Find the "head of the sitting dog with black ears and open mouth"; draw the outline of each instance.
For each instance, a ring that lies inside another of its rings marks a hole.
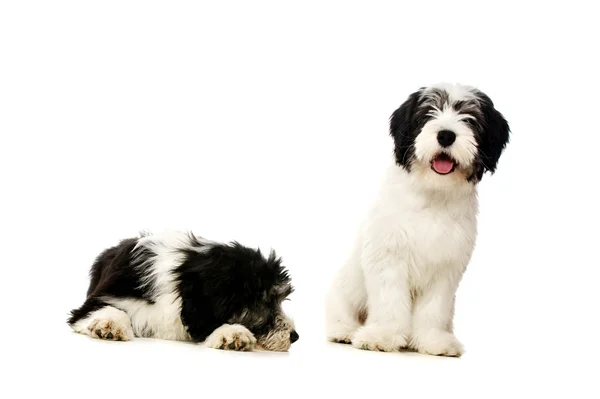
[[[396,163],[433,188],[477,184],[493,173],[509,132],[492,100],[463,85],[421,88],[390,120]]]

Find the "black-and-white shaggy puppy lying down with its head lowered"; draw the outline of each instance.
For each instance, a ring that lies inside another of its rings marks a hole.
[[[281,258],[190,232],[142,233],[103,251],[67,321],[93,338],[204,342],[288,351],[299,338],[282,303],[294,287]]]

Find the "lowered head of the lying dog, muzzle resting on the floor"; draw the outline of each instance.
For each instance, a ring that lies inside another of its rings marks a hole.
[[[294,322],[282,306],[294,291],[288,271],[274,251],[264,257],[259,250],[243,250],[246,273],[241,271],[241,275],[246,281],[244,289],[231,292],[239,305],[229,322],[246,326],[260,349],[287,351],[299,339]]]

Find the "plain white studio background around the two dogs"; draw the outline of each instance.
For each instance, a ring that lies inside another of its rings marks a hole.
[[[598,397],[596,16],[577,1],[2,2],[6,397]],[[323,295],[391,161],[388,118],[439,81],[478,86],[513,131],[480,185],[455,320],[467,353],[327,344]],[[297,288],[292,350],[72,333],[97,253],[164,228],[275,248]]]

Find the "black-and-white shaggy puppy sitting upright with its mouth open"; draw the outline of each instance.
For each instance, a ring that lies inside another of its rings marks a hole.
[[[421,87],[392,114],[393,162],[325,300],[332,342],[461,356],[455,294],[477,235],[477,187],[509,142],[482,91]]]

